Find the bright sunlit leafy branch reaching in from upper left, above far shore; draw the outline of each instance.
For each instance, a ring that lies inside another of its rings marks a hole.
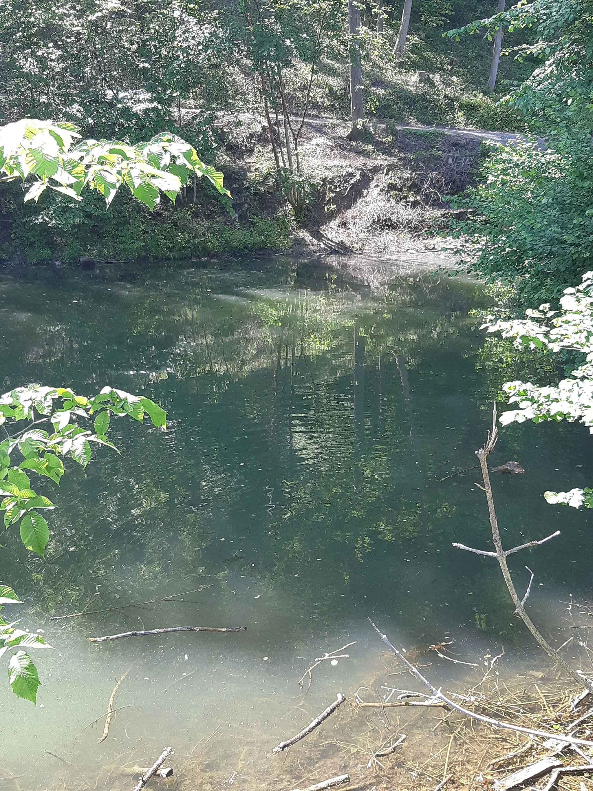
[[[83,187],[90,187],[109,206],[123,184],[153,210],[159,191],[175,201],[190,173],[205,176],[221,195],[230,195],[222,173],[204,165],[195,149],[175,134],[163,132],[135,146],[84,140],[73,148],[74,138],[80,138],[77,127],[65,122],[25,118],[0,127],[0,173],[22,181],[35,176],[25,202],[37,202],[47,187],[79,201]]]

